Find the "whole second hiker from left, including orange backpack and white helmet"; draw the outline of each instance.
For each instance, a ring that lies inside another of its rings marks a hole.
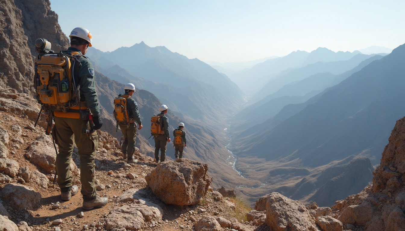
[[[136,123],[139,125],[139,130],[142,129],[142,120],[139,116],[138,104],[132,99],[135,92],[135,86],[128,83],[124,87],[125,94],[118,95],[114,100],[114,117],[117,120],[117,126],[124,135],[122,143],[122,155],[127,159],[127,163],[136,163],[133,159],[136,143]],[[136,123],[135,123],[136,122]]]

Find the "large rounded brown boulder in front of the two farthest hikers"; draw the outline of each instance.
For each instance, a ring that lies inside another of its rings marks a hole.
[[[207,170],[206,163],[181,158],[160,163],[145,180],[164,203],[192,205],[207,193],[212,182]]]

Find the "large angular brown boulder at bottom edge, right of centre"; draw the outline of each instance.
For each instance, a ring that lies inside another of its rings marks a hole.
[[[280,193],[267,194],[266,223],[273,231],[316,231],[315,219],[307,207]]]

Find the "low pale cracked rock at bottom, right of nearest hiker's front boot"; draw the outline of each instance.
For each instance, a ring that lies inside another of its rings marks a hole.
[[[162,220],[162,208],[145,198],[146,196],[147,191],[144,189],[128,189],[117,197],[117,201],[122,203],[128,201],[134,201],[134,203],[111,210],[106,218],[106,229],[139,230],[143,228],[144,220],[146,222]]]

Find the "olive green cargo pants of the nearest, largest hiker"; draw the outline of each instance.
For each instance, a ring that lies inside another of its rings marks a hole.
[[[73,184],[70,173],[70,161],[74,143],[79,149],[80,156],[80,182],[81,194],[83,197],[94,197],[96,195],[96,174],[94,158],[98,148],[97,133],[84,134],[82,129],[90,130],[90,122],[80,119],[55,117],[56,140],[59,146],[59,153],[56,157],[56,172],[58,184],[61,190]],[[73,142],[74,141],[74,142]]]

